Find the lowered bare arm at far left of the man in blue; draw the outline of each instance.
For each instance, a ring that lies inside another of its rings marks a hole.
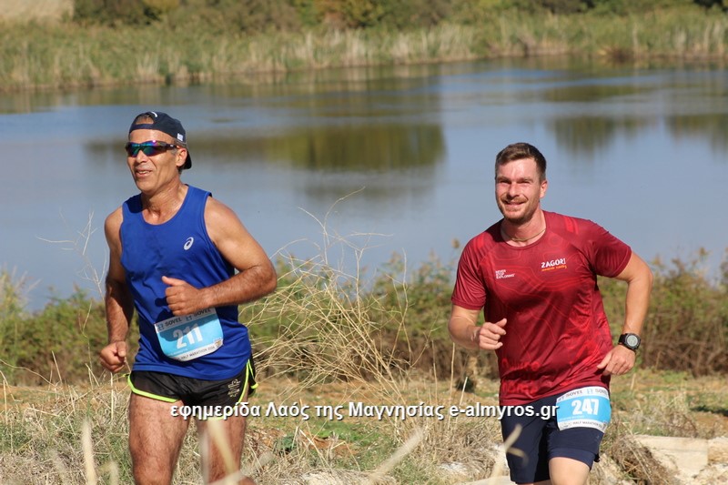
[[[126,287],[124,268],[121,266],[121,208],[106,217],[104,231],[109,248],[109,266],[106,275],[106,331],[108,345],[101,350],[101,364],[112,372],[126,366],[126,334],[134,314],[134,301]]]

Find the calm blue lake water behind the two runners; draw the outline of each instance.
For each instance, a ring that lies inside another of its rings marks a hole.
[[[500,218],[493,160],[515,141],[549,161],[543,207],[645,259],[705,248],[715,272],[728,247],[722,68],[551,58],[2,95],[0,264],[33,284],[30,308],[74,286],[98,296],[89,270],[106,266],[104,217],[135,193],[123,145],[147,109],[182,120],[183,180],[235,209],[271,257],[317,254],[326,219],[369,268],[393,253],[410,268],[449,261],[453,240]],[[328,251],[350,264],[346,244]]]

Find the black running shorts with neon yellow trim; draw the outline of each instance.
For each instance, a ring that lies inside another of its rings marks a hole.
[[[192,379],[166,372],[135,370],[128,377],[129,387],[139,396],[165,402],[181,400],[186,406],[234,406],[258,387],[253,358],[232,379]]]

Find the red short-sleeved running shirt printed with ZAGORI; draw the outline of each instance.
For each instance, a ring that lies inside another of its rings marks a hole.
[[[507,318],[496,350],[501,405],[583,386],[609,388],[597,365],[612,349],[597,275],[615,277],[632,250],[590,220],[544,211],[546,232],[513,247],[497,222],[465,246],[452,303]]]

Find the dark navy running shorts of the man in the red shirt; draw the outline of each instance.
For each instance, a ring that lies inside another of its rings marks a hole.
[[[561,394],[538,399],[530,405],[538,414],[543,406],[556,406]],[[506,440],[516,425],[522,426],[521,435],[512,448],[521,450],[523,456],[506,453],[511,469],[511,480],[516,483],[532,483],[549,480],[549,460],[563,457],[586,463],[591,470],[594,461],[599,461],[599,445],[604,433],[593,428],[559,429],[556,417],[541,419],[540,416],[507,416],[501,419],[503,440]]]

